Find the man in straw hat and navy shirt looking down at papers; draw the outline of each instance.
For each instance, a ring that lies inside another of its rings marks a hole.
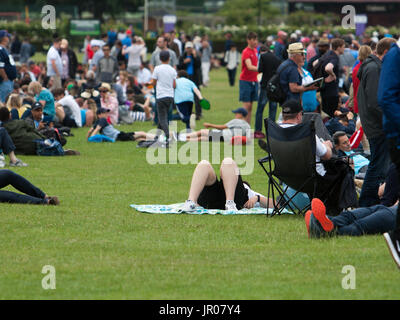
[[[302,85],[300,70],[304,65],[306,53],[303,44],[301,42],[292,43],[289,45],[287,52],[289,58],[278,67],[276,71],[277,77],[274,79],[273,76],[267,85],[270,86],[276,81],[276,78],[279,79],[276,85],[280,86],[280,89],[277,91],[282,90],[282,96],[281,99],[277,97],[278,99],[275,98],[273,101],[275,100],[281,104],[288,100],[301,102],[301,94],[303,92],[318,89],[315,85],[308,87]],[[267,92],[268,90],[270,89],[267,87]]]

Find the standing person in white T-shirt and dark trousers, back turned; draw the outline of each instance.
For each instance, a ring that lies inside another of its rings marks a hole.
[[[168,139],[168,113],[174,103],[174,89],[176,88],[177,73],[176,70],[169,65],[169,51],[161,51],[160,60],[161,64],[154,68],[152,79],[149,85],[156,86],[158,129],[164,131],[165,138]]]

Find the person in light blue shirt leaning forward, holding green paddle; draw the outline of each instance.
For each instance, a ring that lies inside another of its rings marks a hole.
[[[185,70],[178,71],[175,88],[176,109],[182,121],[186,124],[186,129],[194,130],[195,114],[192,116],[193,102],[195,95],[199,100],[203,99],[200,90],[196,84],[189,80],[189,74]]]

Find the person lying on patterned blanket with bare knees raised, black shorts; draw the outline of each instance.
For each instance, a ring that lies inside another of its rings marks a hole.
[[[250,189],[242,180],[236,162],[225,158],[220,167],[218,180],[213,167],[207,160],[200,161],[193,172],[189,198],[182,211],[192,212],[196,205],[205,209],[236,211],[253,208],[257,203],[267,207],[267,198]],[[270,204],[271,206],[271,204]]]

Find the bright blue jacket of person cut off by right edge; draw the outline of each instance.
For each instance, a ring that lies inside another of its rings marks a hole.
[[[385,115],[386,136],[397,137],[400,146],[400,48],[395,43],[383,58],[378,102]]]

